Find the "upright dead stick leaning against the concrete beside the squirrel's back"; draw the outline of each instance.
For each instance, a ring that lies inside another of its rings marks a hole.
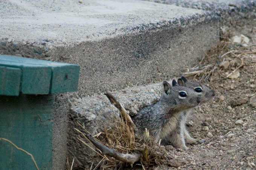
[[[111,94],[111,92],[109,91],[105,92],[104,94],[108,97],[110,102],[114,104],[114,106],[116,106],[116,108],[120,111],[122,118],[125,118],[126,124],[128,124],[130,127],[132,126],[134,128],[134,131],[137,132],[138,129],[133,123],[129,112],[119,103],[119,101],[117,101],[116,97],[114,97],[113,94]]]

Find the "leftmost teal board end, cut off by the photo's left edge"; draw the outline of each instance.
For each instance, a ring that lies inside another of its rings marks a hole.
[[[0,66],[0,95],[19,95],[21,69]]]

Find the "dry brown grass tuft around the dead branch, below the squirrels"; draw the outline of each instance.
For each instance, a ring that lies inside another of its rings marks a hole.
[[[84,143],[84,145],[90,147],[94,152],[98,153],[98,155],[102,157],[102,160],[96,164],[96,166],[94,165],[94,169],[120,170],[125,167],[131,167],[131,165],[128,165],[127,163],[123,163],[122,161],[115,160],[112,157],[102,155],[101,151],[94,149],[92,144],[90,145],[85,142],[89,140],[85,137],[82,131],[87,130],[81,124],[79,124],[79,129],[80,130],[76,129],[76,131],[80,133],[78,140]],[[101,132],[99,135],[95,135],[94,137],[96,137],[99,142],[108,148],[114,149],[119,153],[141,154],[140,162],[134,164],[133,166],[142,166],[143,169],[152,167],[154,165],[163,164],[163,161],[166,158],[165,146],[158,145],[158,143],[156,143],[155,140],[149,136],[148,132],[145,132],[143,136],[136,137],[134,135],[133,128],[128,126],[125,119],[120,117],[114,117],[112,124],[105,127],[104,132]]]

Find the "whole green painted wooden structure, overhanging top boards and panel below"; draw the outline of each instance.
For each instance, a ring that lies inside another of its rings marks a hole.
[[[79,66],[0,55],[0,138],[52,169],[53,95],[76,91]],[[30,156],[0,140],[1,170],[34,170]]]

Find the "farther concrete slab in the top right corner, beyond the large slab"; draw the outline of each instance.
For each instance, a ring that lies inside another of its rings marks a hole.
[[[256,18],[256,0],[149,0],[193,9],[212,11],[221,25],[236,26],[241,19]]]

